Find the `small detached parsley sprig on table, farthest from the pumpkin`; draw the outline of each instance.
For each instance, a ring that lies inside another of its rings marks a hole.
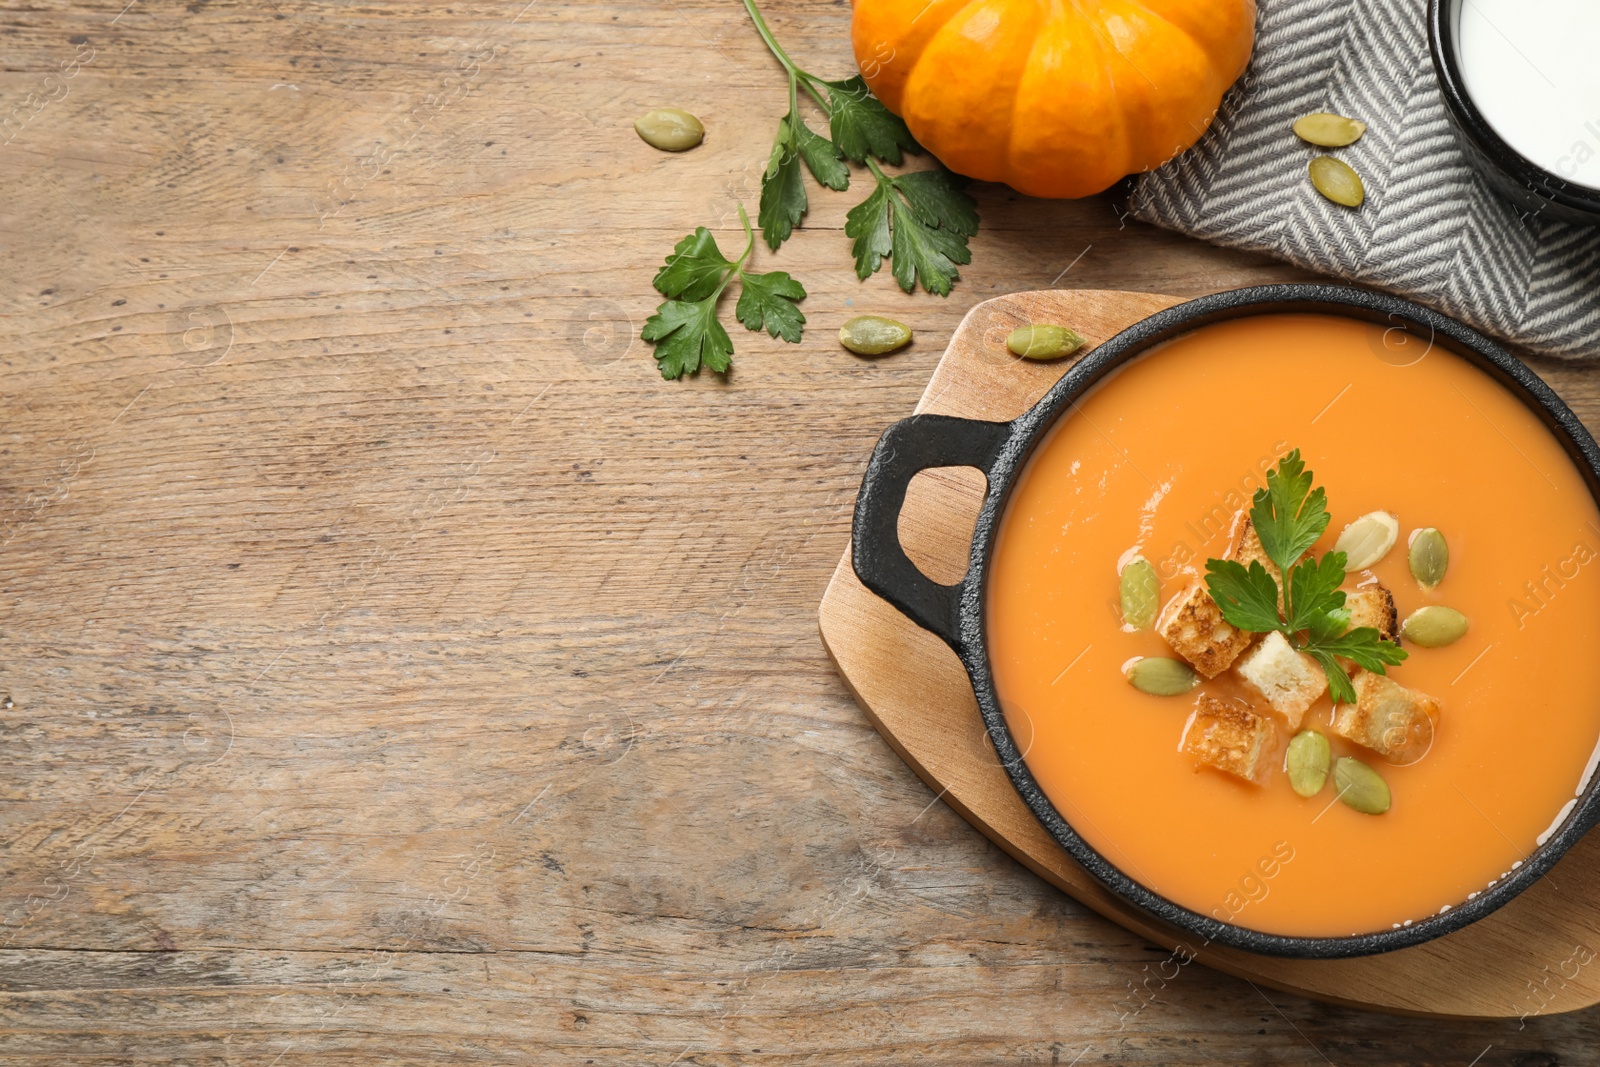
[[[805,286],[782,270],[750,274],[744,264],[755,251],[750,216],[739,205],[744,224],[744,253],[728,259],[717,238],[704,226],[685,237],[656,272],[654,286],[667,298],[656,314],[645,320],[643,338],[656,344],[656,366],[666,379],[696,373],[702,365],[726,371],[733,365],[733,338],[717,318],[717,304],[734,275],[739,277],[739,302],[734,315],[746,330],[766,330],[790,344],[800,341],[805,314],[795,306],[805,299]]]

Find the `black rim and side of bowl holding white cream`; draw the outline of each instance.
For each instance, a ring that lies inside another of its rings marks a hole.
[[[1445,98],[1445,112],[1472,165],[1494,192],[1530,214],[1579,226],[1600,222],[1600,190],[1566,181],[1517,152],[1494,133],[1472,102],[1461,78],[1456,51],[1461,8],[1466,3],[1467,0],[1429,0],[1427,43],[1434,53],[1434,72]]]

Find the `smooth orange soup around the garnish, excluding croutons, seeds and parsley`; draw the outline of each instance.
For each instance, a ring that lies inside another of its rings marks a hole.
[[[1435,915],[1518,867],[1594,773],[1594,498],[1552,432],[1488,374],[1437,347],[1411,358],[1384,347],[1381,326],[1341,317],[1203,326],[1098,384],[1011,494],[987,640],[1018,749],[1094,849],[1203,915],[1302,937]],[[1123,675],[1131,657],[1174,653],[1155,630],[1123,627],[1120,563],[1147,558],[1165,603],[1222,555],[1234,515],[1294,448],[1328,494],[1314,553],[1387,510],[1398,542],[1366,581],[1392,590],[1400,619],[1448,605],[1470,622],[1443,648],[1402,640],[1410,657],[1389,667],[1438,702],[1421,760],[1397,766],[1336,736],[1326,694],[1306,712],[1301,728],[1326,734],[1334,758],[1382,774],[1384,814],[1339,803],[1331,781],[1296,795],[1283,723],[1259,782],[1198,768],[1179,745],[1200,691],[1147,696]],[[1427,526],[1450,545],[1430,590],[1406,560],[1408,534]]]

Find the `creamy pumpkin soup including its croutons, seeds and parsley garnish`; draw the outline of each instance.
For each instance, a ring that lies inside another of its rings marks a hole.
[[[1013,490],[986,614],[1051,803],[1264,933],[1474,897],[1597,761],[1582,475],[1488,374],[1349,318],[1203,326],[1098,384]]]

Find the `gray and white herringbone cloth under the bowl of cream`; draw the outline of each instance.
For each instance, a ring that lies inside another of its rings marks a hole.
[[[1600,227],[1522,218],[1456,146],[1427,0],[1259,0],[1256,54],[1190,152],[1136,182],[1136,218],[1392,290],[1541,355],[1600,355]],[[1333,154],[1352,211],[1306,176],[1309,112],[1362,118]]]

